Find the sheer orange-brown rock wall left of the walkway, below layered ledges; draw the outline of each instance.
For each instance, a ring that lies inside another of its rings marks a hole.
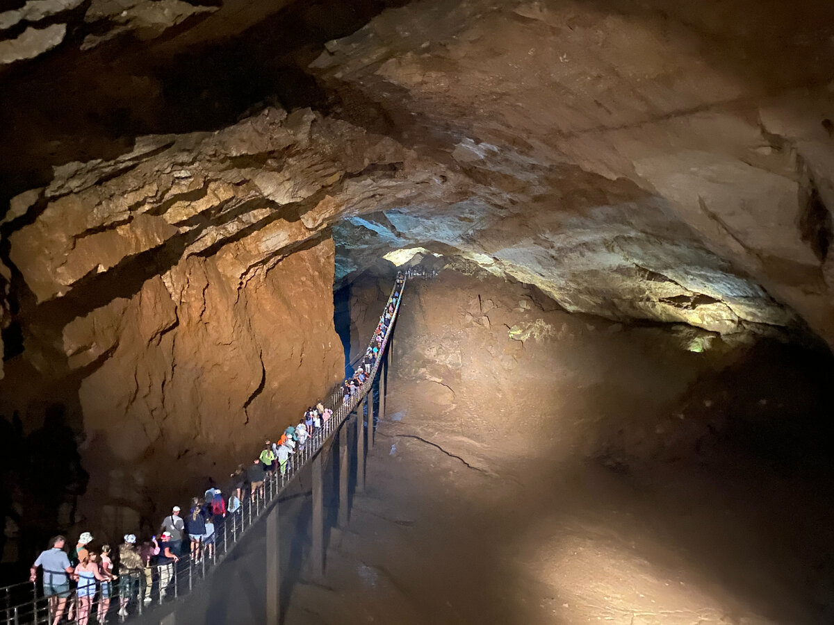
[[[111,540],[138,529],[208,477],[222,482],[338,381],[333,259],[324,238],[241,286],[221,273],[222,258],[187,258],[68,323],[65,378],[77,387],[64,393],[77,389],[77,398],[53,398],[74,407],[90,479],[63,522]],[[3,394],[22,400],[9,386]]]

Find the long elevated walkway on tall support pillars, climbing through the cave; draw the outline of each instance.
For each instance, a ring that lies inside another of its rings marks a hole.
[[[399,282],[401,280],[401,283]],[[322,427],[315,430],[303,448],[296,449],[290,458],[286,473],[281,474],[275,463],[276,472],[264,481],[264,491],[254,499],[244,496],[238,512],[228,513],[223,522],[215,527],[215,545],[212,557],[203,557],[195,562],[192,557],[183,556],[179,561],[168,565],[153,565],[144,572],[120,576],[112,582],[111,601],[108,607],[108,622],[160,622],[163,625],[174,625],[177,621],[178,607],[183,597],[203,585],[212,576],[215,567],[219,566],[239,545],[250,527],[262,518],[266,519],[266,615],[267,625],[278,625],[280,606],[279,589],[281,586],[281,570],[279,567],[279,498],[306,468],[310,468],[313,481],[313,532],[310,549],[310,570],[314,578],[321,578],[324,574],[324,517],[323,517],[323,475],[322,458],[328,452],[339,434],[339,525],[348,521],[350,457],[352,450],[348,449],[346,428],[354,423],[352,415],[357,415],[356,436],[356,489],[364,490],[364,462],[365,449],[374,446],[374,388],[379,388],[379,416],[384,415],[385,403],[385,369],[389,363],[389,351],[392,343],[394,325],[399,315],[401,296],[405,286],[405,276],[399,276],[394,283],[388,301],[385,303],[380,326],[383,328],[382,342],[376,337],[371,338],[369,350],[378,348],[375,358],[369,363],[368,375],[364,383],[352,394],[344,393],[342,383],[335,386],[322,401],[325,408],[333,411],[332,417],[322,423]],[[393,313],[385,324],[385,311],[393,308]],[[378,326],[378,328],[380,327]],[[364,354],[354,359],[352,367],[361,365]],[[367,405],[367,425],[365,423],[365,406]],[[229,497],[230,492],[224,491]],[[183,541],[183,542],[187,542]],[[115,556],[117,549],[113,549]],[[114,565],[114,571],[118,566]],[[150,583],[148,584],[148,572]],[[73,619],[68,619],[70,609],[65,608],[60,622],[77,622],[79,625],[93,625],[98,623],[96,618],[97,604],[102,596],[101,582],[97,582],[96,594],[91,601],[87,619],[78,617],[79,597],[77,589],[72,589],[63,597],[66,605],[72,607]],[[163,587],[166,592],[161,592]],[[0,625],[53,625],[54,605],[50,606],[48,597],[43,596],[40,582],[24,582],[13,586],[0,588]],[[118,616],[117,611],[124,606],[128,615]],[[118,621],[117,621],[118,619]]]

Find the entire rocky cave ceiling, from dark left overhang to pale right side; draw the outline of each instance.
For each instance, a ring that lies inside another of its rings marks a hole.
[[[421,246],[569,311],[831,345],[832,18],[811,0],[13,2],[3,323],[63,327],[190,257],[242,288],[332,236],[337,281]]]

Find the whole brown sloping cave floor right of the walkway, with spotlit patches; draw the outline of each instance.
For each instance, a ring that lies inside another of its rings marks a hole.
[[[450,272],[407,289],[366,492],[285,622],[831,622],[830,466],[738,440],[811,395],[793,365],[528,295]],[[534,322],[556,336],[507,338]],[[759,443],[790,440],[777,426]]]

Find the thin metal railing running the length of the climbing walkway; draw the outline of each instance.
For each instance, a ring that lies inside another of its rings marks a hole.
[[[364,383],[355,393],[347,396],[344,396],[343,383],[334,386],[322,401],[325,408],[333,411],[332,416],[326,421],[322,419],[321,427],[314,429],[304,445],[296,448],[283,473],[276,460],[273,464],[274,473],[264,475],[262,487],[249,495],[245,493],[244,487],[239,509],[236,512],[227,512],[225,517],[216,519],[214,542],[210,550],[206,543],[203,544],[196,558],[187,554],[179,557],[178,562],[155,563],[132,572],[118,573],[117,571],[118,577],[112,582],[93,580],[93,583],[88,586],[82,584],[60,595],[55,595],[52,602],[49,597],[43,595],[43,592],[38,592],[40,585],[38,582],[21,582],[0,587],[0,625],[3,625],[3,622],[5,625],[52,625],[56,610],[61,609],[60,603],[63,603],[63,610],[61,610],[63,618],[60,622],[92,625],[100,622],[99,617],[103,620],[103,618],[113,616],[114,613],[118,615],[120,622],[124,622],[130,617],[143,614],[154,606],[176,601],[178,597],[191,592],[200,581],[211,574],[214,567],[240,541],[249,527],[259,521],[264,512],[283,493],[284,488],[287,488],[295,476],[319,454],[324,443],[339,430],[344,421],[371,391],[399,313],[399,303],[402,300],[406,278],[403,276],[402,279],[401,284],[394,283],[394,288],[391,289],[388,301],[385,303],[383,315],[379,318],[380,323],[384,323],[384,314],[389,305],[393,304],[394,312],[387,329],[384,329],[382,343],[377,346],[375,336],[369,343],[370,348],[378,347],[379,351]],[[363,353],[359,358],[355,358],[351,366],[355,368],[364,356]],[[369,428],[373,427],[374,424],[370,423]],[[227,499],[229,494],[225,495]],[[183,531],[183,538],[187,537],[188,534]],[[183,540],[183,551],[187,548],[186,542]],[[162,548],[164,549],[164,543]],[[104,597],[104,593],[108,595],[107,598]],[[89,594],[89,597],[85,597],[85,594]]]

